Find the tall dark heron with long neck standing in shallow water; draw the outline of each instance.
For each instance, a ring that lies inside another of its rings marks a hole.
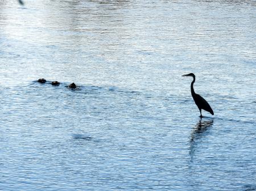
[[[185,74],[185,75],[183,75],[183,77],[193,77],[193,81],[191,82],[191,95],[192,95],[197,107],[199,108],[200,117],[203,117],[202,112],[201,112],[202,109],[204,109],[205,111],[207,111],[207,112],[209,112],[210,114],[213,115],[214,113],[212,111],[212,108],[208,104],[208,102],[202,96],[200,96],[199,94],[196,94],[195,91],[194,91],[193,84],[196,81],[195,74],[193,74],[193,73]]]

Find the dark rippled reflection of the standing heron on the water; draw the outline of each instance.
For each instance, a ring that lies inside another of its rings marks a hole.
[[[193,156],[195,155],[195,148],[199,139],[204,137],[207,133],[207,130],[210,126],[213,125],[213,119],[203,120],[203,118],[199,119],[195,128],[193,128],[191,132],[191,139],[190,139],[190,147],[189,147],[189,155],[191,157],[191,162],[193,162]]]

